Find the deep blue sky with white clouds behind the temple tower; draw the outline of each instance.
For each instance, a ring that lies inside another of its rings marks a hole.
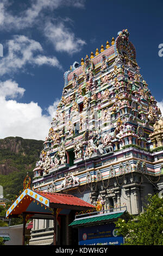
[[[0,138],[45,139],[74,61],[122,29],[162,109],[163,1],[1,0]]]

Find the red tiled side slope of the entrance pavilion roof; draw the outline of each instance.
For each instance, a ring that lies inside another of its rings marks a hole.
[[[92,204],[85,202],[84,200],[72,196],[71,194],[60,194],[60,193],[49,193],[43,191],[37,191],[41,196],[49,199],[50,204],[65,204],[65,205],[75,205],[75,206],[83,206],[87,208],[94,208]]]

